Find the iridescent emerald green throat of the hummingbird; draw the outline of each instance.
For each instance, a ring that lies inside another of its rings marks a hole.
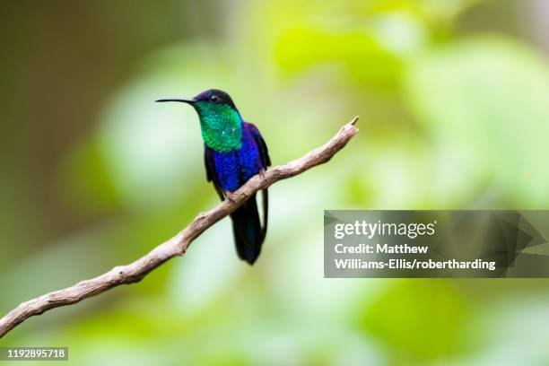
[[[200,118],[202,138],[209,148],[220,153],[242,147],[242,118],[238,110],[228,104],[198,101],[196,112]]]

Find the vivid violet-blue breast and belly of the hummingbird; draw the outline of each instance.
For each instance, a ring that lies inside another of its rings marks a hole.
[[[213,152],[213,163],[219,184],[231,192],[240,188],[263,168],[258,146],[248,128],[243,128],[240,150]]]

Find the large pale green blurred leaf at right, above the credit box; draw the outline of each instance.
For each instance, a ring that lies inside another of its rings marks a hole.
[[[419,57],[405,79],[435,154],[460,156],[456,175],[491,179],[510,203],[549,200],[549,67],[516,41],[469,39]]]

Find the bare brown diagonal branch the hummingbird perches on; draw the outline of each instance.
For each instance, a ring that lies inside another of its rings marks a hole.
[[[267,170],[262,176],[257,175],[249,179],[244,186],[240,187],[234,193],[233,201],[224,200],[210,211],[198,214],[187,228],[135,262],[126,266],[116,266],[109,272],[90,280],[85,280],[63,290],[49,292],[36,299],[23,302],[5,315],[4,318],[0,319],[0,338],[27,318],[42,314],[49,309],[83,301],[120,284],[139,282],[145,275],[153,271],[154,268],[161,266],[162,263],[170,258],[184,255],[193,240],[215,222],[231,214],[246,202],[249,196],[258,190],[269,187],[278,180],[291,178],[316,165],[329,161],[335,153],[344,148],[345,144],[357,134],[358,128],[354,126],[357,120],[358,117],[353,118],[327,144],[307,153],[300,159],[274,167],[271,170]]]

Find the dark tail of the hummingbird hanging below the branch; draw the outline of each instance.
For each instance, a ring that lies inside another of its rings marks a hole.
[[[264,203],[266,204],[266,196]],[[253,265],[261,253],[261,245],[266,234],[266,223],[262,228],[259,221],[256,195],[249,197],[244,205],[231,213],[231,219],[237,253],[240,259]]]

